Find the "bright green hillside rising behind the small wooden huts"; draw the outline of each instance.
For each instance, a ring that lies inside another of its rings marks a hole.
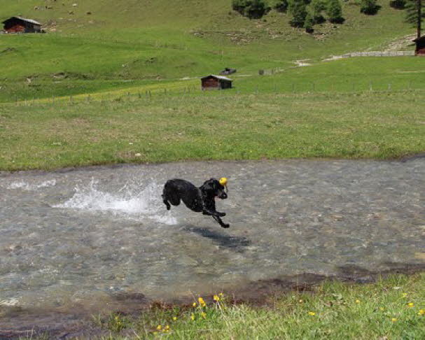
[[[0,101],[134,87],[225,66],[256,73],[295,59],[379,50],[411,31],[387,1],[372,16],[361,14],[357,1],[344,2],[346,22],[319,25],[313,35],[290,27],[285,13],[249,20],[230,3],[0,0],[1,20],[31,17],[49,32],[0,36]]]

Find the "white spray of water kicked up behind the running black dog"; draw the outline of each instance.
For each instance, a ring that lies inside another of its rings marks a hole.
[[[165,225],[175,225],[176,218],[165,211],[161,199],[162,187],[150,183],[141,185],[127,184],[116,192],[105,192],[98,189],[98,183],[92,180],[85,187],[76,186],[75,194],[63,204],[54,208],[72,208],[85,211],[104,211],[132,220],[155,220]]]

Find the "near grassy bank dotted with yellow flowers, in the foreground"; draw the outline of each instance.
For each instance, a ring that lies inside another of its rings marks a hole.
[[[367,285],[327,282],[267,306],[194,297],[196,306],[153,308],[139,318],[95,318],[106,339],[424,339],[425,274]],[[202,303],[204,302],[204,303]],[[125,334],[125,335],[124,335]]]

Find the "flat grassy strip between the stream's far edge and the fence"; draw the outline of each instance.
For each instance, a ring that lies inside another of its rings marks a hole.
[[[3,106],[0,169],[425,150],[421,91],[231,94]]]

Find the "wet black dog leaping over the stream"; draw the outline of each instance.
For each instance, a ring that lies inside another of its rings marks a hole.
[[[178,178],[167,180],[162,192],[162,199],[167,206],[167,210],[171,208],[170,203],[173,206],[178,206],[180,201],[183,201],[190,210],[197,213],[202,211],[204,215],[211,215],[221,227],[228,228],[229,225],[221,220],[225,213],[216,211],[215,197],[228,198],[228,194],[224,192],[223,185],[215,178],[207,180],[199,188],[187,180]]]

